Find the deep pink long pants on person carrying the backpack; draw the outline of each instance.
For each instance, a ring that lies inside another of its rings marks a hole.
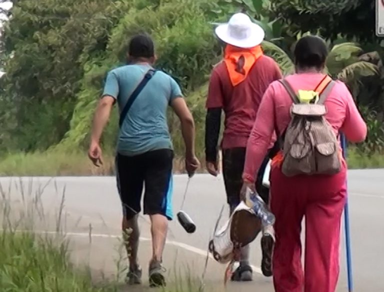
[[[271,171],[270,208],[276,216],[273,252],[275,292],[334,292],[339,275],[340,221],[346,167],[333,176],[288,178]],[[305,216],[305,267],[301,221]]]

